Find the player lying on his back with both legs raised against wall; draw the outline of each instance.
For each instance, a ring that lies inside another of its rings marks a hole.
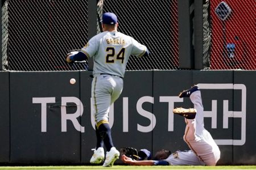
[[[168,150],[156,152],[154,160],[137,161],[122,155],[124,163],[131,165],[216,165],[220,159],[220,149],[210,133],[204,128],[203,104],[199,86],[185,90],[179,97],[190,97],[194,108],[174,109],[175,114],[185,117],[184,141],[191,150],[176,151],[171,154]]]

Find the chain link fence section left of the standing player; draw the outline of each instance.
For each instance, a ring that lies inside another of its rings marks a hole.
[[[3,67],[16,71],[86,69],[65,55],[88,41],[84,0],[7,0],[2,8]]]

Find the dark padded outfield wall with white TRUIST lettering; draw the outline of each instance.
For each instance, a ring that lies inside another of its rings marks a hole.
[[[0,163],[86,164],[96,144],[90,71],[0,72]],[[71,78],[76,79],[70,84]],[[256,164],[256,71],[127,71],[110,111],[117,148],[188,150],[180,91],[199,84],[220,165]],[[117,163],[121,163],[120,160]]]

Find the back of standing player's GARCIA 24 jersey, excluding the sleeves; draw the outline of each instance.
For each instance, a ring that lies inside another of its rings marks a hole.
[[[120,32],[103,32],[98,35],[98,53],[94,56],[94,74],[108,73],[124,76],[133,41]]]

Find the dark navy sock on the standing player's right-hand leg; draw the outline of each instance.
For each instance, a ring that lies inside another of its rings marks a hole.
[[[104,145],[106,150],[109,152],[110,149],[114,146],[112,142],[111,130],[109,127],[108,122],[99,122],[98,124],[98,131],[101,136],[101,140],[104,141]]]

